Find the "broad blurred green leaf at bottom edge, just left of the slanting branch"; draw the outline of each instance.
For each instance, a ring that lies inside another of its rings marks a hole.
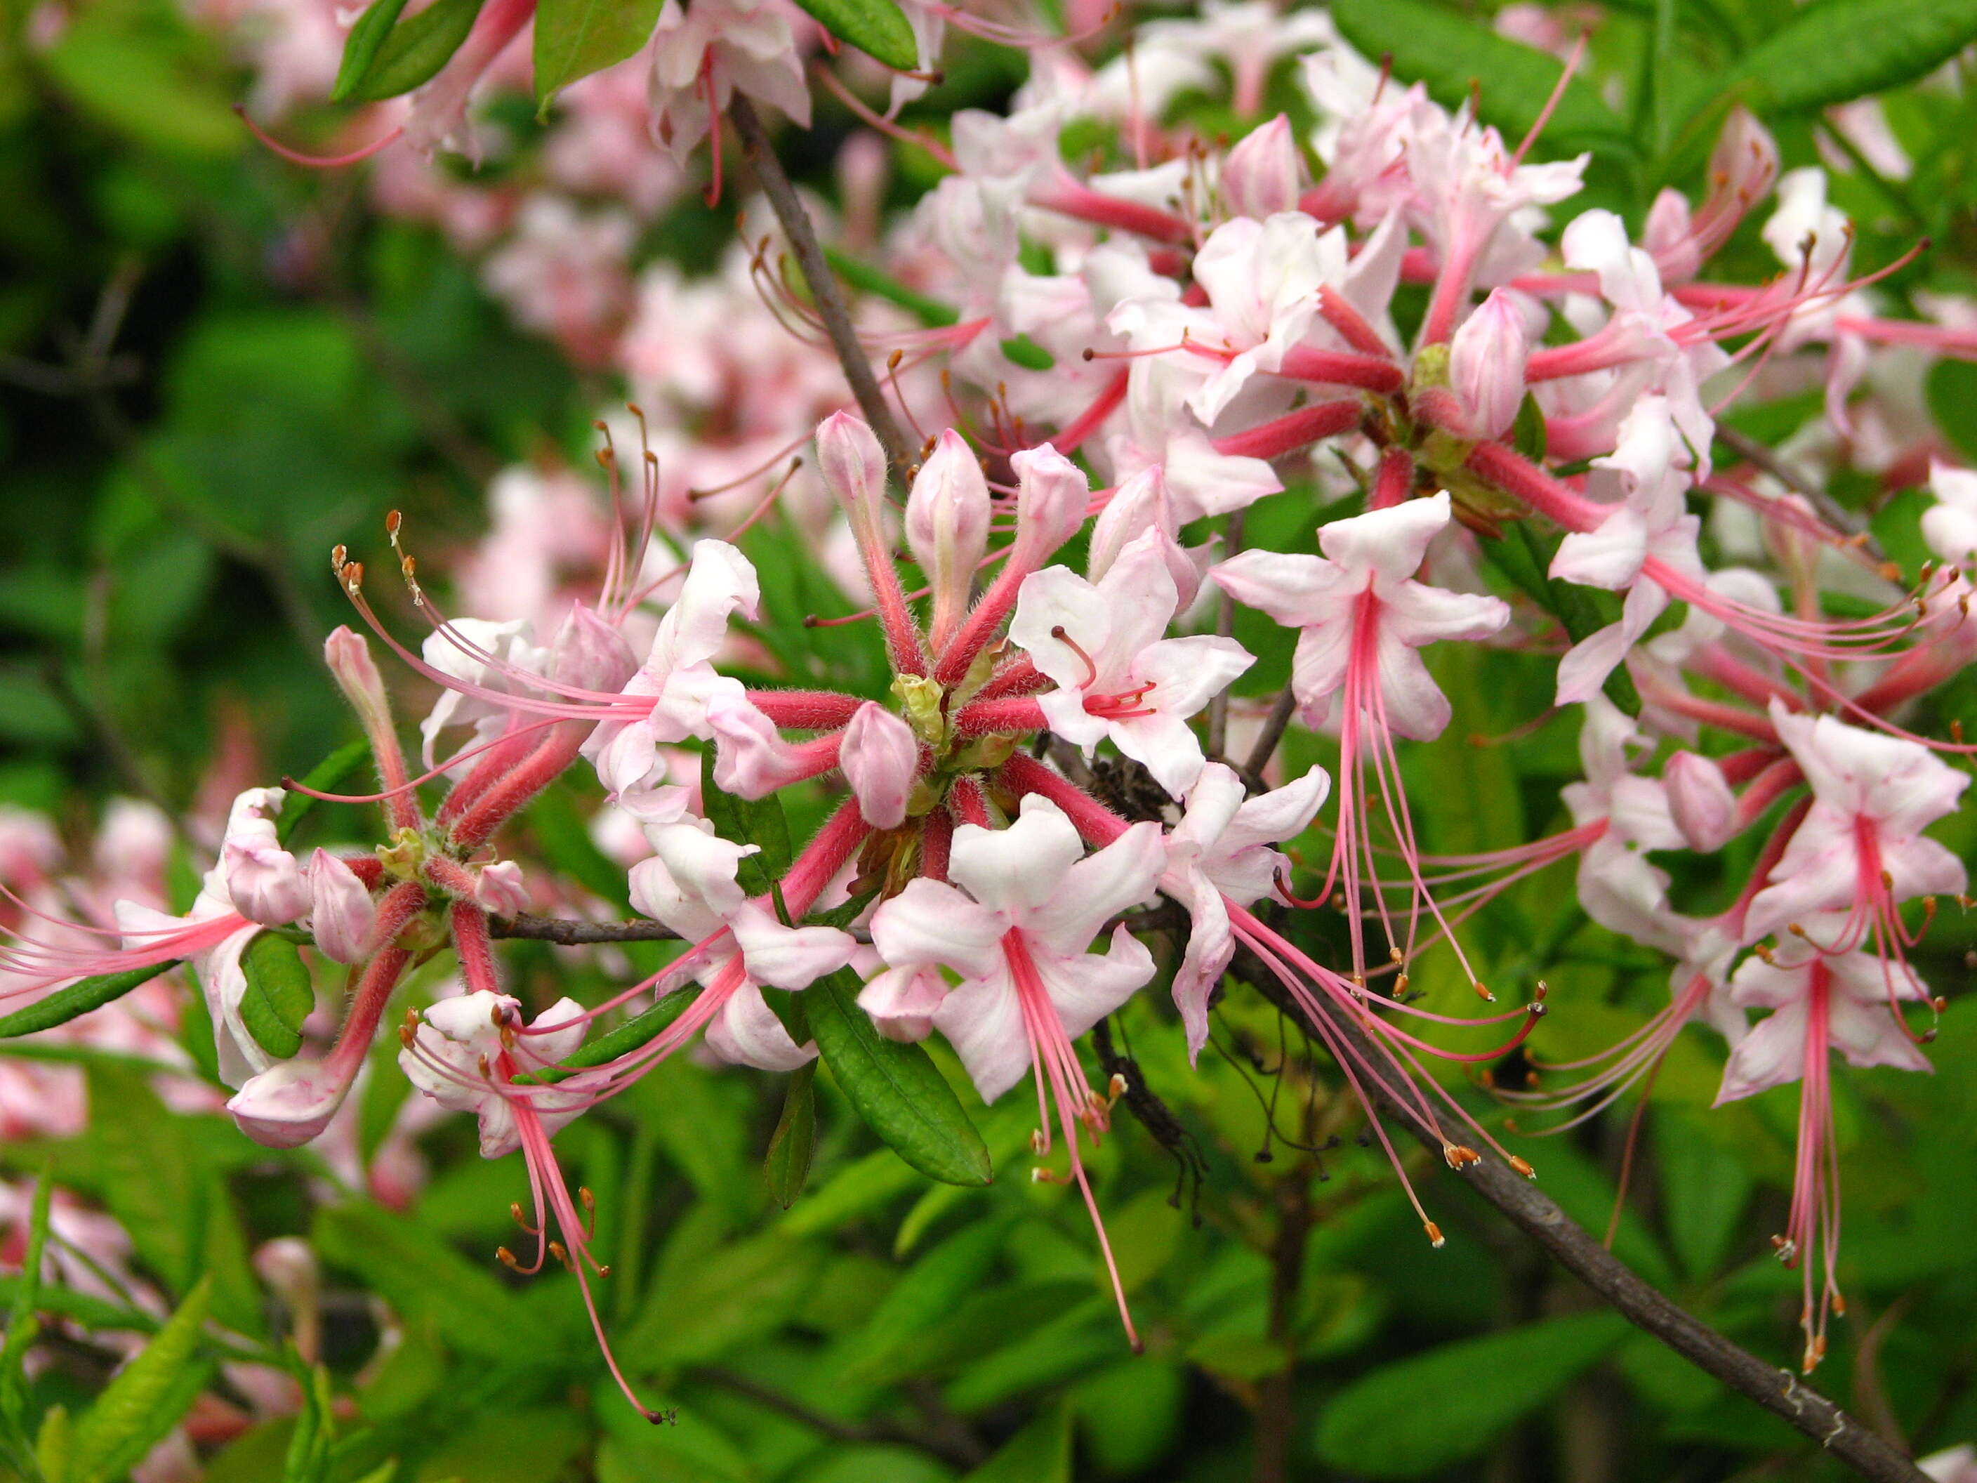
[[[1625,1335],[1619,1313],[1580,1313],[1386,1364],[1319,1416],[1319,1455],[1368,1477],[1433,1473],[1487,1449]]]

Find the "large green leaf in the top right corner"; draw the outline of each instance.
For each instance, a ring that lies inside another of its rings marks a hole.
[[[1977,0],[1821,0],[1712,91],[1748,89],[1760,111],[1823,109],[1910,83],[1977,42]]]

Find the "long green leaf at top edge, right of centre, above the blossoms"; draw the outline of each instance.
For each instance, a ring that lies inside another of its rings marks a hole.
[[[1334,0],[1331,14],[1364,55],[1390,55],[1396,77],[1425,83],[1451,109],[1471,97],[1473,83],[1479,85],[1483,123],[1516,138],[1538,123],[1564,75],[1556,57],[1425,0]],[[1544,138],[1560,148],[1576,144],[1635,154],[1627,125],[1599,101],[1599,91],[1586,77],[1566,83]]]

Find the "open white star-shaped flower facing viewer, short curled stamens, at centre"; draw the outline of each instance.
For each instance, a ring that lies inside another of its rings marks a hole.
[[[1050,730],[1087,753],[1111,738],[1176,797],[1202,771],[1188,716],[1255,662],[1234,639],[1162,639],[1178,601],[1160,534],[1149,530],[1097,583],[1068,567],[1026,577],[1008,625],[1058,684],[1038,698]]]

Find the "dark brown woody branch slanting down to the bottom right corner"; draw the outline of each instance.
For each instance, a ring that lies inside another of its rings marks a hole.
[[[1297,1001],[1251,953],[1238,953],[1230,971],[1289,1014],[1303,1016]],[[1368,1062],[1378,1064],[1380,1052],[1372,1048],[1358,1024],[1331,1008],[1321,1012],[1332,1036],[1348,1042]],[[1419,1109],[1370,1078],[1366,1091],[1380,1117],[1400,1123],[1439,1157],[1445,1139]],[[1591,1287],[1631,1325],[1653,1335],[1730,1390],[1779,1416],[1860,1477],[1874,1483],[1928,1483],[1928,1475],[1900,1449],[1809,1388],[1791,1370],[1767,1364],[1742,1345],[1730,1343],[1655,1291],[1584,1226],[1560,1210],[1544,1190],[1495,1155],[1485,1153],[1479,1163],[1469,1165],[1461,1182],[1497,1206],[1510,1224],[1542,1246],[1558,1265]]]

